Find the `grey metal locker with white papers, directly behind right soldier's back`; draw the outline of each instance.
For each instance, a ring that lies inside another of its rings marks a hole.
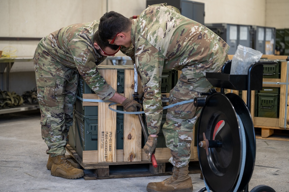
[[[205,24],[230,46],[229,55],[234,55],[238,45],[252,47],[251,26],[227,23]]]

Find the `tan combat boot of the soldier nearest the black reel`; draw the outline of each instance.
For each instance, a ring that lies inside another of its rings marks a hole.
[[[191,192],[192,179],[188,176],[189,166],[173,169],[173,175],[162,182],[153,182],[147,185],[149,192]]]

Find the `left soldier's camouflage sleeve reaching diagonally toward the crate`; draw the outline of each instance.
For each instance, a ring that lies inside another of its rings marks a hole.
[[[74,39],[68,43],[68,48],[84,81],[102,100],[109,100],[116,91],[101,76],[92,48],[82,39]],[[99,63],[102,61],[100,60]]]

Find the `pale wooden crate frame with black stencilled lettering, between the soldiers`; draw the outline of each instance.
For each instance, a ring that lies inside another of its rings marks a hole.
[[[133,99],[134,94],[134,66],[98,66],[101,75],[108,84],[116,90],[117,69],[124,69],[125,83],[124,96]],[[140,85],[140,83],[138,83]],[[141,85],[138,90],[140,90]],[[83,99],[100,99],[96,94],[83,94]],[[129,164],[149,163],[141,148],[142,129],[137,115],[124,114],[123,149],[116,149],[116,112],[108,108],[109,102],[86,102],[83,106],[98,106],[98,150],[83,151],[83,157],[76,157],[72,151],[71,155],[81,161],[81,166],[91,167],[96,164]],[[111,106],[116,109],[116,105]],[[195,132],[194,132],[195,133]],[[103,146],[103,147],[101,147]],[[156,148],[155,158],[158,162],[168,162],[171,158],[169,148]],[[194,139],[191,145],[191,161],[198,161],[197,147],[194,146]]]

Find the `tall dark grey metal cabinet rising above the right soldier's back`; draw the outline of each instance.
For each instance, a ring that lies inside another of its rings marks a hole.
[[[205,20],[205,3],[199,3],[188,0],[147,0],[148,5],[167,3],[174,6],[181,12],[181,15],[204,24]]]

